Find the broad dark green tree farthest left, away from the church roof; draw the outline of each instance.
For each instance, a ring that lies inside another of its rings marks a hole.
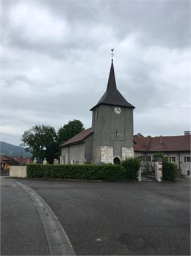
[[[28,147],[33,157],[52,163],[58,151],[57,133],[48,125],[35,125],[21,136],[21,145]]]

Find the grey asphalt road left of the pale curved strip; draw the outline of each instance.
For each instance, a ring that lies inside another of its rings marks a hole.
[[[29,196],[1,178],[1,255],[48,255],[40,216]]]

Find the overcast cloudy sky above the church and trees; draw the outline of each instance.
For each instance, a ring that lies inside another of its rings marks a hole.
[[[34,125],[91,126],[114,48],[134,134],[190,131],[190,1],[1,1],[1,141]]]

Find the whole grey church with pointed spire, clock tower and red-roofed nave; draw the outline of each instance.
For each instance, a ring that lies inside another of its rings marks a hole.
[[[133,111],[115,81],[113,60],[107,90],[92,111],[92,127],[60,145],[60,164],[112,163],[134,156]]]

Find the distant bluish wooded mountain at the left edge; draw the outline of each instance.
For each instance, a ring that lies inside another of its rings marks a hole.
[[[4,156],[25,156],[25,157],[32,157],[32,153],[26,152],[25,148],[12,145],[7,142],[0,142],[0,151],[1,155]]]

